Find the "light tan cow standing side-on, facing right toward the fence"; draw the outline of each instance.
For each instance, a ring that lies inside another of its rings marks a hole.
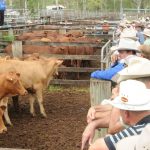
[[[56,58],[47,58],[42,60],[6,60],[0,62],[0,72],[6,72],[11,68],[15,68],[20,73],[20,79],[23,86],[29,91],[30,113],[35,116],[34,101],[37,97],[40,113],[46,117],[43,106],[43,90],[49,84],[54,74],[58,74],[58,67],[62,64],[62,60]]]

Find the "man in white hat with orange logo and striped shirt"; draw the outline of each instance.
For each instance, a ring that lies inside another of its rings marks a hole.
[[[116,150],[117,143],[130,136],[141,134],[143,128],[150,123],[150,89],[146,84],[136,80],[126,80],[120,83],[119,95],[105,103],[119,108],[121,120],[128,128],[96,140],[89,150]]]

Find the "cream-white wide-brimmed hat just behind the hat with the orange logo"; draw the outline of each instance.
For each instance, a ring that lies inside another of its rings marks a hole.
[[[150,61],[142,57],[133,57],[128,67],[113,76],[112,81],[119,83],[123,80],[141,77],[150,77]]]

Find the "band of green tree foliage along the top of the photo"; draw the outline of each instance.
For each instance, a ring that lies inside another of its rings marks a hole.
[[[25,0],[6,0],[8,6],[12,3],[12,8],[25,8]],[[147,8],[150,9],[150,0],[26,0],[27,8],[34,11],[38,7],[46,8],[47,5],[62,4],[67,9],[80,10],[120,10],[120,2],[123,8]]]

